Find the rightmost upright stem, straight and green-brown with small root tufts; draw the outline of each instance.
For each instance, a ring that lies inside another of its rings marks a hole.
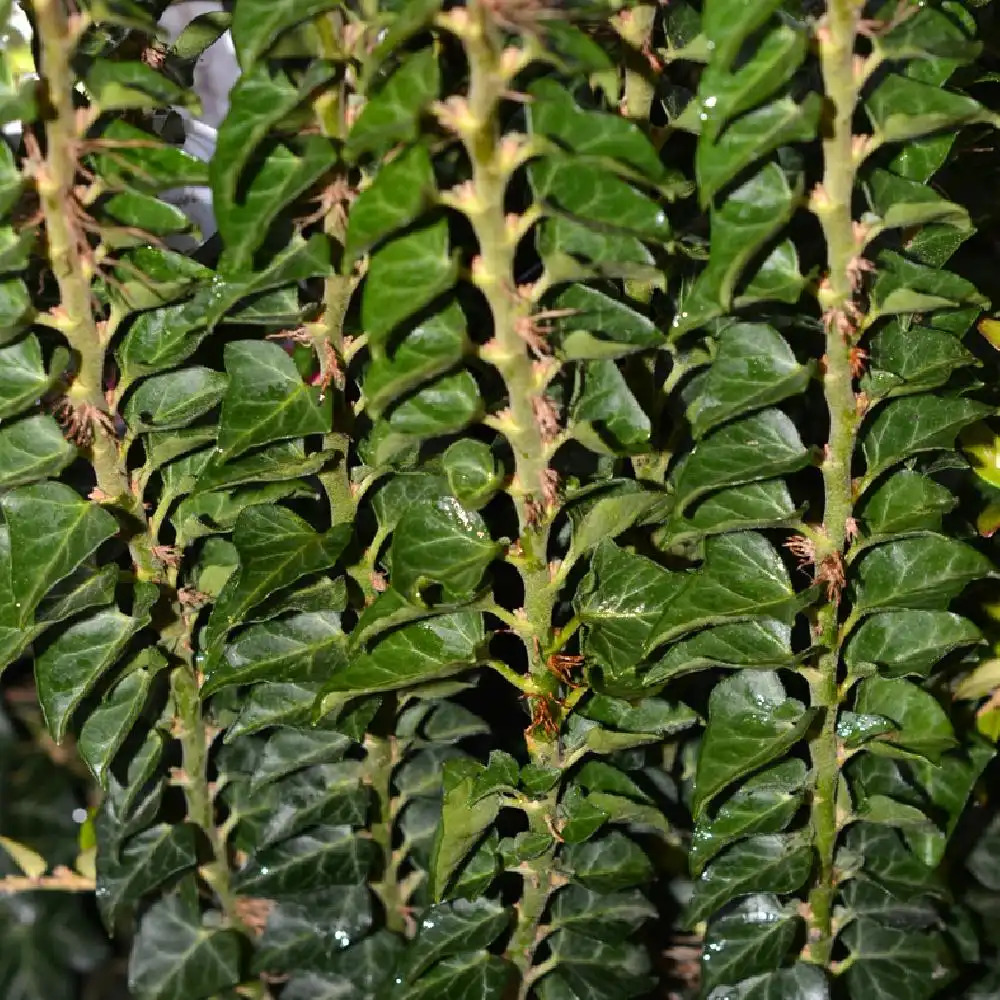
[[[852,262],[860,252],[854,231],[852,198],[857,170],[852,119],[859,82],[854,69],[854,43],[862,0],[830,0],[820,27],[819,55],[830,117],[823,139],[822,189],[812,208],[827,244],[827,277],[820,291],[826,321],[826,370],[823,389],[830,430],[823,462],[824,530],[816,544],[816,565],[830,584],[831,598],[818,612],[820,644],[826,650],[813,675],[813,702],[822,722],[810,751],[816,774],[812,827],[819,853],[818,881],[810,895],[810,958],[826,965],[833,948],[833,899],[836,891],[834,854],[838,833],[837,786],[840,774],[837,713],[840,702],[838,668],[839,577],[843,553],[850,541],[853,509],[851,459],[859,416],[851,372],[854,344],[854,284]]]

